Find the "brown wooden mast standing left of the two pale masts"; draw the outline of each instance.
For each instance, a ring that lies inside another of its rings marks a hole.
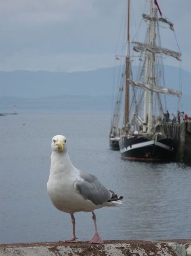
[[[129,36],[129,18],[130,18],[130,0],[128,0],[128,17],[127,17],[127,50],[126,50],[126,79],[125,79],[125,120],[126,125],[129,122],[129,66],[130,66],[130,36]]]

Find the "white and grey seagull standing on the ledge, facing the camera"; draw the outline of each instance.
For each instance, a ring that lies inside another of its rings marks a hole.
[[[89,243],[102,244],[103,240],[97,231],[94,210],[103,206],[121,205],[123,197],[118,197],[113,191],[105,188],[94,175],[80,171],[73,166],[67,152],[66,137],[54,136],[51,148],[47,192],[58,210],[70,213],[73,225],[73,238],[64,242],[77,242],[74,213],[85,211],[92,212],[95,227],[95,235]]]

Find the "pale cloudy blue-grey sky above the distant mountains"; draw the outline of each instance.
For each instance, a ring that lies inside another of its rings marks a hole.
[[[131,0],[136,35],[146,0]],[[174,23],[181,67],[191,72],[191,0],[158,0]],[[0,0],[0,70],[88,71],[114,66],[126,0]],[[165,26],[162,45],[178,51]],[[139,41],[145,31],[139,30]],[[175,42],[175,43],[174,43]],[[170,58],[166,64],[179,66]]]

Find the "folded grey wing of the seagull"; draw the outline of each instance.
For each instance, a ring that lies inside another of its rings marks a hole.
[[[111,192],[94,175],[80,172],[80,177],[83,181],[77,181],[74,187],[85,200],[89,199],[95,205],[102,205],[112,197]]]

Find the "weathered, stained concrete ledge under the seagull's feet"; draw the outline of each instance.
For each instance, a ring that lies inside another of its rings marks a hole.
[[[191,239],[0,244],[0,256],[191,256]]]

